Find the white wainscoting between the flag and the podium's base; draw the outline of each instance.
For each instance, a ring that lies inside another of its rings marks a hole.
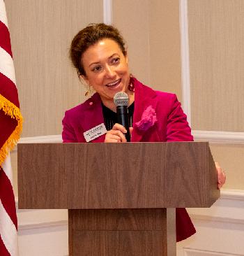
[[[68,255],[67,210],[17,209],[17,218],[19,256]]]

